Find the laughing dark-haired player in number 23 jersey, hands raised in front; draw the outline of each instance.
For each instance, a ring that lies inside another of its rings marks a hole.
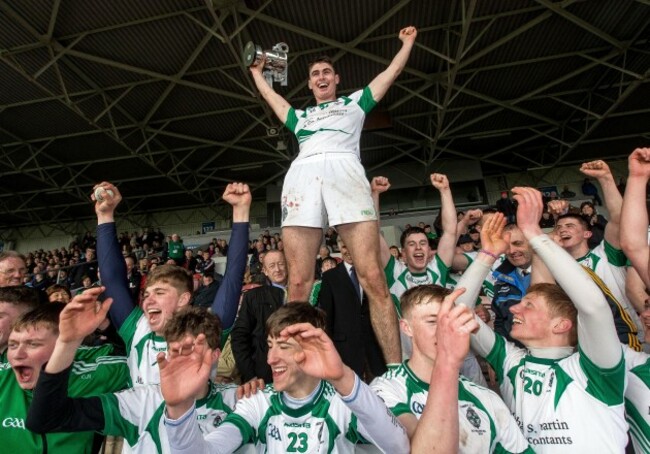
[[[159,355],[172,453],[230,453],[257,442],[271,453],[354,452],[371,442],[383,452],[409,452],[403,427],[370,388],[341,361],[325,334],[323,313],[308,303],[287,304],[266,323],[274,384],[237,403],[216,431],[196,423],[195,399],[210,370],[201,336]]]

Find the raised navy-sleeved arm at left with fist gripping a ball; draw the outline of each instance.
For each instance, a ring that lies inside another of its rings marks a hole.
[[[135,308],[129,290],[129,281],[126,278],[126,263],[117,242],[115,227],[115,209],[122,201],[122,194],[116,186],[106,181],[96,185],[93,190],[98,187],[104,188],[102,200],[97,200],[94,193],[91,196],[95,201],[95,213],[97,213],[97,261],[102,275],[102,284],[106,287],[106,296],[113,298],[115,302],[108,315],[115,329],[119,331]],[[112,195],[108,191],[111,191]]]

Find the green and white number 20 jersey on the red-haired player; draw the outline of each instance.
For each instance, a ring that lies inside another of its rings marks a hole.
[[[485,359],[535,452],[624,452],[622,354],[615,367],[601,369],[580,351],[557,360],[537,358],[495,333]]]

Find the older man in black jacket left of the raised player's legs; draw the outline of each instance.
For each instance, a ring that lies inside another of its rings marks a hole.
[[[264,254],[262,272],[269,285],[254,288],[244,294],[239,316],[230,333],[232,352],[242,383],[262,378],[273,381],[271,367],[266,362],[266,320],[286,301],[287,266],[282,251]]]

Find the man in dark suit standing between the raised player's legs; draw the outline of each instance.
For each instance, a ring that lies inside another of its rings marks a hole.
[[[368,381],[386,372],[386,361],[370,323],[368,298],[359,285],[350,252],[338,239],[343,262],[323,273],[318,305],[343,362]]]

